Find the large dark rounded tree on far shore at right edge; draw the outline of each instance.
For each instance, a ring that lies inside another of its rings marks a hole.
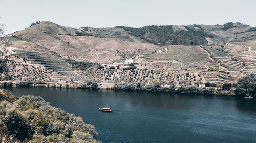
[[[242,79],[238,80],[235,93],[240,96],[249,94],[255,96],[256,94],[256,77],[254,74],[247,75]]]

